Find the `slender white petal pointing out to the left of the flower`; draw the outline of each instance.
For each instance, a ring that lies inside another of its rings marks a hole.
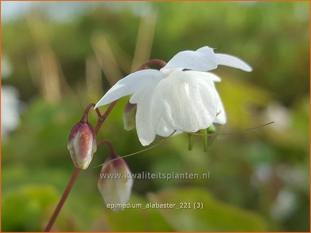
[[[164,74],[158,70],[142,70],[126,76],[119,80],[95,105],[97,108],[109,104],[123,96],[131,95],[144,88],[154,80],[160,80]]]

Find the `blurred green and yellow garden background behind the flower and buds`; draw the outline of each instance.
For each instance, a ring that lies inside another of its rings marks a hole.
[[[219,67],[228,123],[209,152],[187,135],[126,159],[132,172],[210,171],[211,179],[134,181],[131,202],[203,202],[202,210],[105,207],[108,148],[80,172],[53,230],[309,231],[309,2],[2,2],[2,231],[41,231],[74,170],[71,127],[148,59],[202,46],[242,58]],[[123,98],[97,140],[142,149],[123,129]],[[107,107],[101,107],[105,111]],[[96,123],[91,111],[89,120]],[[155,140],[158,141],[160,138]]]

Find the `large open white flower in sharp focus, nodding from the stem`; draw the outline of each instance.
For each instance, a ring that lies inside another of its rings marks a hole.
[[[212,48],[176,54],[161,70],[142,70],[117,82],[96,104],[109,104],[132,95],[137,104],[136,130],[142,145],[155,135],[168,136],[173,130],[196,132],[212,123],[225,124],[226,114],[214,82],[221,79],[206,72],[225,65],[250,72],[240,59],[215,54]]]

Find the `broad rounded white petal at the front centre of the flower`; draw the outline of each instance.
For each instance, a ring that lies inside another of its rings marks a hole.
[[[157,112],[173,128],[196,132],[208,128],[217,115],[215,91],[202,77],[173,71],[155,90]]]

